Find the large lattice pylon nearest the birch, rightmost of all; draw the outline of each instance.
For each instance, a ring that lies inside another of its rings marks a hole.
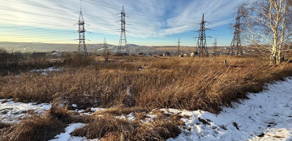
[[[235,25],[233,26],[235,28],[234,36],[233,36],[233,39],[228,51],[228,55],[231,53],[231,56],[232,55],[237,56],[239,54],[243,55],[242,47],[240,43],[240,25],[242,24],[240,23],[240,18],[241,18],[241,15],[239,15],[239,8],[238,8],[237,17],[235,18],[236,22],[235,22]]]

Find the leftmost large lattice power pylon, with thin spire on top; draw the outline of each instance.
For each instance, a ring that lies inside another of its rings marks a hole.
[[[79,30],[77,31],[79,33],[79,46],[78,46],[78,53],[88,55],[87,50],[86,50],[86,45],[85,45],[85,29],[84,29],[84,18],[81,12],[80,8],[80,16],[79,16],[79,21],[77,23],[79,25]]]

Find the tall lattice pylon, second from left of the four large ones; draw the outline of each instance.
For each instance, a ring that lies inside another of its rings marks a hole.
[[[127,43],[127,38],[126,38],[126,29],[125,29],[125,10],[124,6],[121,11],[121,37],[120,37],[120,42],[119,42],[119,47],[118,47],[118,55],[129,55],[129,49],[128,49],[128,43]]]

